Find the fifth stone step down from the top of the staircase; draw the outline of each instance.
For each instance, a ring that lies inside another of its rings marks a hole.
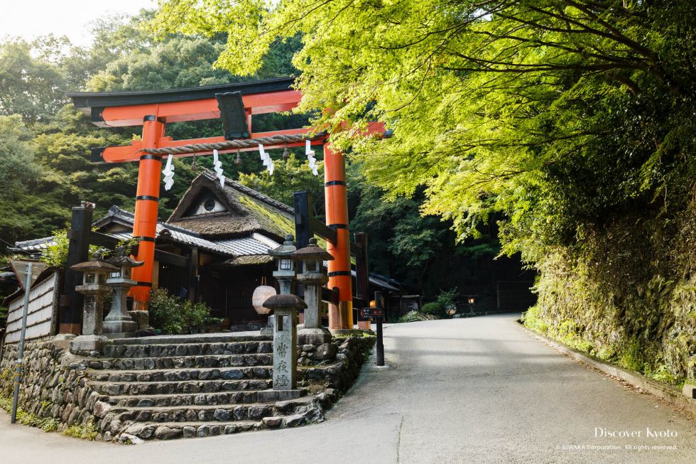
[[[146,395],[234,392],[239,390],[265,390],[273,387],[271,379],[245,380],[175,380],[171,382],[137,381],[89,381],[100,394]]]

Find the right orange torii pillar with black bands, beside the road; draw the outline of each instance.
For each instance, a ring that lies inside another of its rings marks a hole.
[[[329,288],[338,287],[339,303],[329,305],[329,329],[353,328],[353,291],[350,272],[350,237],[348,232],[348,195],[346,159],[340,151],[324,145],[324,191],[326,225],[336,231],[336,243],[327,240]]]

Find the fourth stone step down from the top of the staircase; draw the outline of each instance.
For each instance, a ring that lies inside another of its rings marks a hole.
[[[200,367],[141,370],[98,370],[89,369],[91,379],[100,382],[174,382],[178,380],[241,380],[270,379],[273,366],[254,367]]]

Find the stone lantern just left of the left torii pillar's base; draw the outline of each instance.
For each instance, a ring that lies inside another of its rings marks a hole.
[[[138,330],[138,323],[128,313],[126,296],[128,289],[138,284],[131,279],[131,269],[142,266],[144,261],[136,261],[126,256],[125,249],[121,247],[116,256],[109,259],[109,263],[116,266],[107,279],[107,284],[114,288],[114,298],[111,311],[104,319],[104,333],[108,333],[109,338],[131,337]]]

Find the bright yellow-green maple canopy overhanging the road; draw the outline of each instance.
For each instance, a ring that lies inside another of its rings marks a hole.
[[[390,195],[425,186],[423,211],[462,237],[505,212],[508,251],[538,259],[539,242],[570,244],[614,210],[681,204],[695,18],[685,0],[168,0],[156,24],[227,33],[217,65],[240,74],[301,33],[301,109],[322,109],[320,125],[394,129],[385,141],[332,138],[364,157],[372,182]]]

